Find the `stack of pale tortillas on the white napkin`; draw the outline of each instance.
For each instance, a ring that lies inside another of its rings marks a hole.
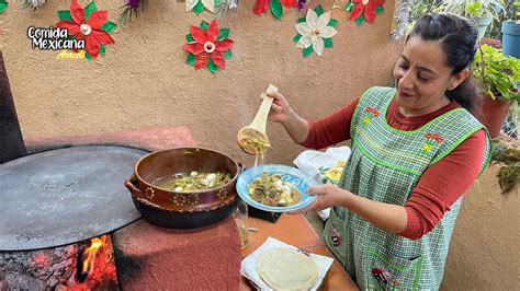
[[[273,248],[257,260],[260,278],[274,290],[308,290],[318,279],[318,265],[290,248]]]

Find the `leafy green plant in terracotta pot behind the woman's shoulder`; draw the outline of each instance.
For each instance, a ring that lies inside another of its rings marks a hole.
[[[500,49],[479,46],[472,65],[472,72],[484,94],[477,118],[489,130],[491,137],[500,133],[509,105],[520,101],[520,59],[505,56]]]

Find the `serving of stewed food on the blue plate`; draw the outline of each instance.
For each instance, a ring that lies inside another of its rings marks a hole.
[[[255,201],[275,207],[292,206],[302,199],[291,183],[282,181],[281,174],[263,173],[249,184],[248,193]]]

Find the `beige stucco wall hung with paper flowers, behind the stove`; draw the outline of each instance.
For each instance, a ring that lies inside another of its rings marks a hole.
[[[394,1],[387,1],[374,25],[360,27],[336,10],[340,23],[335,47],[306,59],[292,43],[303,14],[291,9],[281,21],[271,14],[257,16],[253,2],[239,1],[238,13],[219,21],[221,27],[230,27],[235,45],[234,58],[216,74],[184,65],[181,47],[190,25],[214,19],[208,12],[185,13],[184,3],[147,1],[146,11],[120,26],[113,34],[116,44],[94,62],[57,60],[56,51],[31,48],[27,27],[55,24],[56,11],[68,10],[69,1],[47,1],[36,11],[11,5],[0,15],[0,48],[24,137],[186,126],[200,146],[252,163],[236,146],[236,133],[252,120],[270,82],[297,112],[313,118],[371,85],[387,83],[402,46],[388,37]],[[97,3],[116,20],[122,1]],[[268,162],[290,163],[302,150],[279,125],[268,125],[268,135],[273,143]]]

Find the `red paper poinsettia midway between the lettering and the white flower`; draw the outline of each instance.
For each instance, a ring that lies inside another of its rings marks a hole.
[[[201,26],[203,28],[191,25],[189,38],[192,42],[182,47],[191,54],[190,56],[195,56],[194,63],[188,62],[195,65],[195,70],[208,66],[212,72],[216,72],[215,65],[219,69],[224,69],[226,53],[230,54],[229,49],[233,46],[233,40],[227,38],[229,30],[218,30],[216,21],[212,21],[210,25],[203,21]]]

